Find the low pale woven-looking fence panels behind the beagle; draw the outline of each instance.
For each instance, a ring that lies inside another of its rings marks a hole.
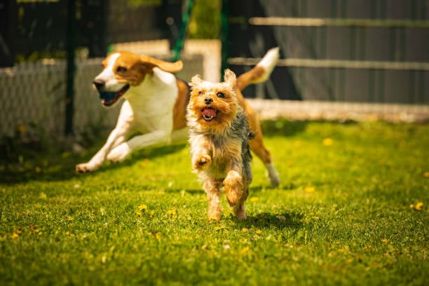
[[[144,43],[142,43],[144,44]],[[140,48],[141,49],[141,48]],[[168,59],[171,55],[163,55]],[[179,78],[189,80],[196,73],[203,74],[202,55],[182,55],[184,69]],[[119,107],[104,109],[92,87],[100,73],[102,58],[76,62],[74,80],[74,134],[91,135],[112,128]],[[0,69],[1,136],[18,136],[24,141],[40,136],[64,134],[65,121],[65,60],[45,60],[18,64]]]

